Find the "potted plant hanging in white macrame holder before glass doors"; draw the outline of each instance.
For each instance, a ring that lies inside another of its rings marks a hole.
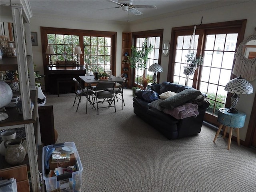
[[[193,42],[193,48],[191,49]],[[197,61],[196,61],[196,25],[194,26],[194,32],[192,38],[190,40],[190,45],[188,47],[188,54],[186,55],[187,59],[187,66],[184,66],[183,73],[185,75],[194,75],[196,68],[197,68]]]

